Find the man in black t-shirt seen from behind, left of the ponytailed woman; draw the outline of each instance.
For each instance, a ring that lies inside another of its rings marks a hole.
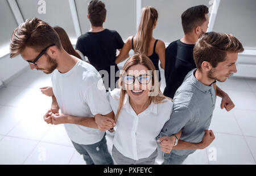
[[[84,54],[101,74],[106,90],[114,89],[119,78],[119,69],[115,64],[117,49],[123,48],[123,40],[114,30],[104,29],[106,19],[105,4],[93,0],[88,5],[89,32],[77,39],[76,49]]]

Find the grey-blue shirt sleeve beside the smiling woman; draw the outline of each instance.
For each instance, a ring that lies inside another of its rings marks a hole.
[[[162,131],[156,139],[176,134],[191,120],[191,118],[192,115],[188,108],[174,106],[170,119],[164,124]]]

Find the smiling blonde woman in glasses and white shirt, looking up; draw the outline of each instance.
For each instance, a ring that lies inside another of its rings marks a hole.
[[[155,163],[155,138],[170,118],[174,104],[160,91],[154,70],[146,55],[133,55],[123,66],[120,89],[109,93],[116,121],[112,154],[117,164]],[[155,90],[158,93],[152,96]],[[167,139],[168,145],[174,144],[172,137]]]

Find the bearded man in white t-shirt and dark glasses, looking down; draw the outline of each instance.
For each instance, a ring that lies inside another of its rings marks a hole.
[[[113,164],[105,131],[114,127],[114,113],[96,68],[69,55],[54,29],[37,18],[27,19],[13,32],[10,57],[18,54],[31,69],[53,72],[52,89],[56,97],[53,100],[57,101],[61,114],[58,107],[52,107],[44,120],[55,125],[64,123],[86,164]]]

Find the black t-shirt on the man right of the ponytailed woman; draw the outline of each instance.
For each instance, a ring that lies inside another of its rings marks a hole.
[[[174,94],[183,83],[185,76],[193,68],[196,68],[193,59],[194,46],[176,40],[166,48],[166,63],[164,66],[166,88],[163,93],[165,96],[174,98]]]

